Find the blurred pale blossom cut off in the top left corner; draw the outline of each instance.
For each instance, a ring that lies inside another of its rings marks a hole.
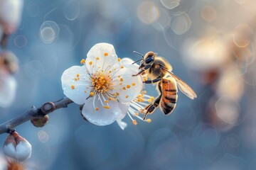
[[[0,24],[5,33],[14,33],[21,22],[23,0],[0,1]]]

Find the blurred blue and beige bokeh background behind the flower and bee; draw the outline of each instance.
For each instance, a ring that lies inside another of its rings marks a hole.
[[[255,0],[25,0],[6,44],[19,70],[1,123],[63,98],[64,70],[109,42],[118,57],[165,57],[198,98],[179,92],[174,113],[158,109],[150,124],[125,118],[125,130],[86,122],[75,104],[43,128],[19,125],[33,146],[29,169],[255,169],[255,30]],[[155,86],[146,91],[158,95]]]

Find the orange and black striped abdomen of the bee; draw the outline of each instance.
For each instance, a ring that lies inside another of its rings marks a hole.
[[[174,108],[176,107],[176,102],[178,99],[177,95],[177,84],[176,81],[168,77],[166,79],[161,80],[161,110],[164,112],[164,114],[168,115],[172,111],[174,111]]]

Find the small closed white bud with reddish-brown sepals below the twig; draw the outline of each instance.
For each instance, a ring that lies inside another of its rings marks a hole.
[[[6,157],[16,159],[18,162],[23,162],[31,157],[31,144],[24,138],[18,135],[17,132],[11,133],[4,142],[4,154]]]

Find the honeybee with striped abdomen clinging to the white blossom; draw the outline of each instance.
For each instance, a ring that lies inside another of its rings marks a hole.
[[[194,99],[197,97],[196,93],[188,84],[171,72],[171,64],[167,62],[164,57],[159,57],[156,53],[151,51],[146,52],[146,55],[135,51],[134,53],[142,56],[142,58],[136,62],[142,62],[139,65],[139,69],[141,69],[140,72],[133,76],[146,74],[150,80],[143,81],[143,83],[156,84],[156,90],[159,92],[159,96],[144,108],[143,120],[146,119],[147,114],[153,113],[159,105],[165,115],[171,114],[176,107],[178,89],[180,89],[183,94],[186,94],[188,98]]]

